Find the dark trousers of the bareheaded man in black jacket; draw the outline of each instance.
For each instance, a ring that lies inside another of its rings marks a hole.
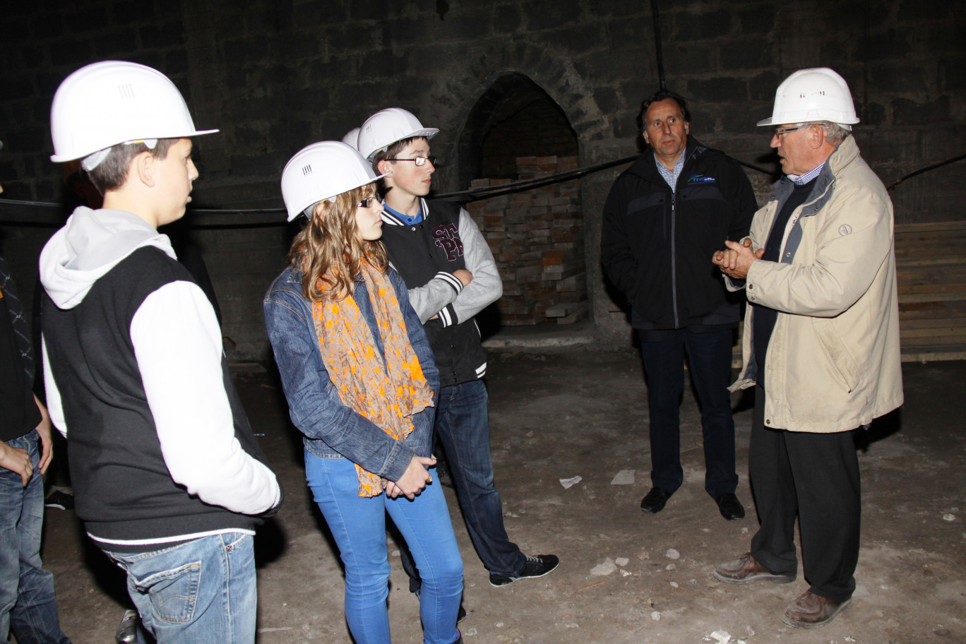
[[[731,378],[731,328],[698,326],[638,330],[650,410],[651,484],[674,491],[684,481],[679,426],[684,393],[684,352],[701,407],[704,489],[713,497],[734,493],[734,420],[727,386]]]

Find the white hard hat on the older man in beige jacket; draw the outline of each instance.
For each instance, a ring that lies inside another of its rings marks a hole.
[[[829,121],[852,129],[859,123],[848,83],[826,67],[798,70],[779,85],[775,93],[775,111],[759,126],[781,126],[785,123]]]

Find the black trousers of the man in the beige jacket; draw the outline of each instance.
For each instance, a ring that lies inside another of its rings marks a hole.
[[[758,386],[749,464],[761,526],[752,539],[752,556],[774,574],[796,573],[798,515],[809,590],[844,602],[855,590],[859,560],[862,505],[855,432],[773,430],[765,427],[764,407],[765,390]]]

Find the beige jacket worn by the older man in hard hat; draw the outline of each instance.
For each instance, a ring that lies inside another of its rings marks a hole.
[[[788,192],[776,184],[776,198],[755,212],[753,250]],[[765,427],[847,432],[902,405],[893,204],[852,136],[789,218],[781,262],[753,262],[745,288],[744,367],[731,391],[755,383],[755,306],[779,311],[765,358]]]

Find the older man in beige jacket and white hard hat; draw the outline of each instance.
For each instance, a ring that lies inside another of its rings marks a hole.
[[[784,177],[749,238],[714,264],[744,288],[744,369],[755,387],[750,470],[761,525],[752,551],[719,566],[726,583],[789,583],[798,516],[807,592],[785,624],[812,629],[850,602],[859,558],[853,434],[902,404],[893,206],[851,126],[844,79],[799,70],[778,89],[771,146]]]

